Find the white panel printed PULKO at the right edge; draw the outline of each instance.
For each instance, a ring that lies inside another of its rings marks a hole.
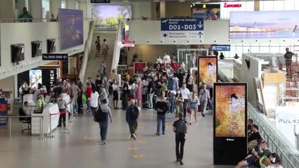
[[[296,147],[296,133],[299,132],[299,111],[292,106],[277,106],[275,108],[276,128]],[[294,130],[294,126],[296,130]]]

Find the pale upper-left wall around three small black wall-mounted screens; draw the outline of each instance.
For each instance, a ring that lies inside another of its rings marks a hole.
[[[84,21],[84,44],[88,36],[90,22]],[[20,28],[22,27],[22,31]],[[56,39],[56,53],[73,55],[84,51],[84,44],[60,51],[60,26],[58,22],[50,23],[6,23],[0,24],[0,79],[44,65],[51,61],[42,61],[41,56],[31,57],[31,41],[42,41],[42,53],[47,52],[47,39]],[[25,44],[25,60],[19,65],[11,62],[11,44]],[[3,73],[5,71],[5,73]]]

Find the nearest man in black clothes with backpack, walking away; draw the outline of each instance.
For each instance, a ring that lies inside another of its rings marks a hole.
[[[184,154],[184,144],[187,135],[187,122],[183,119],[183,113],[179,113],[179,119],[174,122],[173,127],[174,132],[176,133],[177,162],[179,162],[180,165],[183,165],[182,159]]]

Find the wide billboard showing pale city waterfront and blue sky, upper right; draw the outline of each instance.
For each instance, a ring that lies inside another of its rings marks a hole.
[[[231,12],[230,38],[298,38],[299,11]]]

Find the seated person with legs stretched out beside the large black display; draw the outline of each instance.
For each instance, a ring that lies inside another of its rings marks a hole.
[[[238,163],[236,168],[242,168],[244,166],[250,167],[251,165],[258,166],[261,158],[265,158],[265,157],[269,158],[269,156],[271,155],[271,152],[269,151],[268,143],[266,141],[262,141],[260,144],[260,147],[263,150],[262,153],[252,151],[252,153],[250,155],[248,155],[245,158],[245,160]]]

